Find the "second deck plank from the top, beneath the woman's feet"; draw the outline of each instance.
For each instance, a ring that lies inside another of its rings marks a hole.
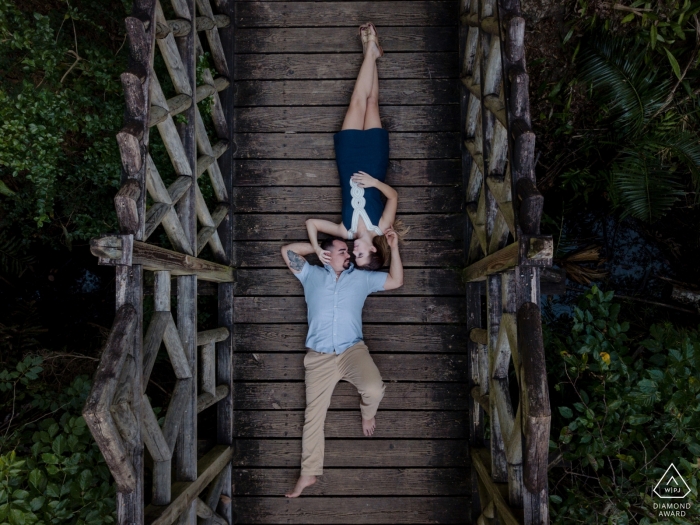
[[[457,27],[385,27],[381,29],[381,40],[385,53],[457,51]],[[357,28],[319,27],[309,31],[301,27],[263,27],[236,31],[236,53],[309,52],[361,53]]]

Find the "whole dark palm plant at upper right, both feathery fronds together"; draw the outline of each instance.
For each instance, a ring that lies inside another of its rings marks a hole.
[[[672,105],[671,81],[630,39],[596,35],[581,51],[579,78],[605,110],[610,160],[597,169],[622,216],[663,217],[685,186],[700,187],[700,140]]]

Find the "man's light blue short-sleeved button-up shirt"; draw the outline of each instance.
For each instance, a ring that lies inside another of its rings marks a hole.
[[[309,263],[294,274],[304,285],[309,333],[306,347],[341,354],[362,341],[362,307],[372,292],[384,290],[389,274],[356,270],[353,264],[336,280],[329,265]]]

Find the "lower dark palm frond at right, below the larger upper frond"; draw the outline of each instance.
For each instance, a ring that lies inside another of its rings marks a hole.
[[[669,170],[654,144],[623,150],[611,179],[620,198],[622,216],[655,222],[684,194],[678,176]]]

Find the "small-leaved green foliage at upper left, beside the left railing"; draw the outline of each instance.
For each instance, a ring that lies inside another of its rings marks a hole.
[[[105,13],[121,18],[123,6],[76,1],[42,14],[21,5],[0,0],[0,224],[25,242],[70,247],[115,226],[126,52]]]

